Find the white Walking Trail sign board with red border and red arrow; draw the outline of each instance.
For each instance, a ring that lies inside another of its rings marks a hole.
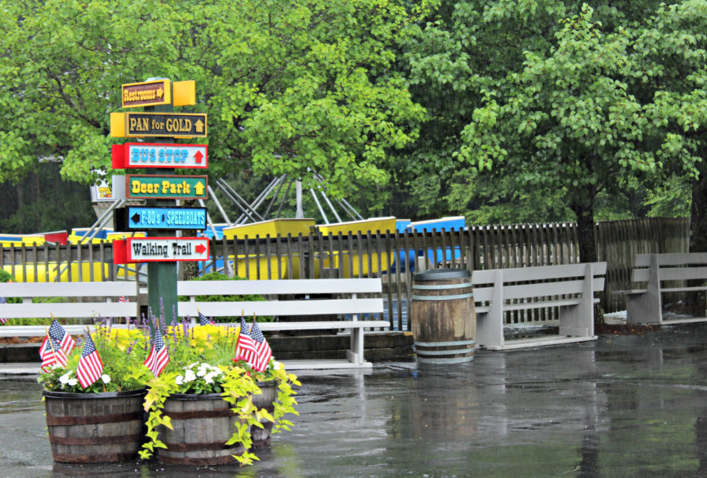
[[[128,262],[207,261],[208,237],[128,237]]]

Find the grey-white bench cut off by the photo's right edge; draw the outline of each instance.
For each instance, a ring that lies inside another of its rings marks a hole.
[[[662,318],[663,292],[694,292],[707,287],[661,287],[664,280],[706,280],[707,253],[636,254],[633,258],[632,282],[648,282],[646,289],[617,290],[612,294],[626,296],[626,323],[660,325],[705,322],[707,318],[681,318],[664,321]]]

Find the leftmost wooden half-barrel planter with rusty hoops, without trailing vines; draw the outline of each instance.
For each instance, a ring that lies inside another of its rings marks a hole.
[[[134,460],[144,438],[146,390],[64,393],[45,390],[54,461],[107,463]]]

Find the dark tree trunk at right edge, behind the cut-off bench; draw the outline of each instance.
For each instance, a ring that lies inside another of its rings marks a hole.
[[[702,172],[692,183],[690,210],[690,252],[707,252],[707,173]],[[700,287],[704,280],[689,280],[687,287]],[[689,292],[685,297],[688,313],[704,316],[705,292]]]

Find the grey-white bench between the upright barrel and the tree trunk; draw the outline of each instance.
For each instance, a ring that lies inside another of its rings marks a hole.
[[[489,350],[520,349],[596,340],[595,292],[604,290],[607,263],[547,265],[515,269],[474,270],[474,301],[477,305],[477,345]],[[534,282],[506,285],[513,282]],[[492,284],[490,287],[477,287]],[[572,297],[581,294],[581,297]],[[570,296],[570,297],[563,297]],[[518,299],[516,303],[507,303]],[[542,299],[532,301],[533,299]],[[504,340],[503,313],[559,307],[559,335],[525,340]]]

